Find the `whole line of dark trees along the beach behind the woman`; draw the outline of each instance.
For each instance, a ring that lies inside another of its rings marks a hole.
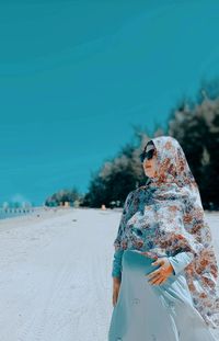
[[[79,202],[80,206],[123,206],[127,194],[145,184],[139,155],[153,137],[170,135],[181,144],[191,170],[199,186],[205,209],[219,209],[219,82],[203,82],[196,98],[184,98],[170,111],[166,124],[148,128],[134,126],[131,141],[117,155],[104,160],[92,172],[88,192],[81,195],[76,187],[61,190],[46,200],[46,205],[65,201]]]

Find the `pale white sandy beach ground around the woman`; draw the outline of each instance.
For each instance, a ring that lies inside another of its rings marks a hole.
[[[219,255],[219,214],[206,217]],[[0,220],[1,341],[107,341],[119,218],[59,208]]]

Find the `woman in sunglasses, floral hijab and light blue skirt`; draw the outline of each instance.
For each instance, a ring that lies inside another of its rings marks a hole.
[[[125,202],[108,341],[216,341],[218,264],[196,181],[171,136],[140,155],[146,185]]]

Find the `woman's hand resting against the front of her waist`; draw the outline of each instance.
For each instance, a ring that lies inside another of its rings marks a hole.
[[[158,258],[155,262],[151,263],[151,265],[159,264],[161,265],[159,269],[146,275],[149,279],[150,284],[160,285],[164,283],[171,274],[173,274],[174,270],[168,257]]]

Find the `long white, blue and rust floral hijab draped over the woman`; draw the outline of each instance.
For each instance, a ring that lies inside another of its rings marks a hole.
[[[194,258],[184,272],[194,306],[207,325],[217,328],[218,264],[198,186],[175,138],[151,140],[157,151],[157,174],[128,194],[114,247],[160,257],[191,252]]]

